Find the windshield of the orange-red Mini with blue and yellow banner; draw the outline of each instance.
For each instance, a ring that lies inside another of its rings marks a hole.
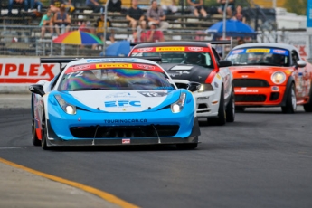
[[[289,52],[278,48],[245,48],[229,52],[226,60],[232,65],[289,66]]]

